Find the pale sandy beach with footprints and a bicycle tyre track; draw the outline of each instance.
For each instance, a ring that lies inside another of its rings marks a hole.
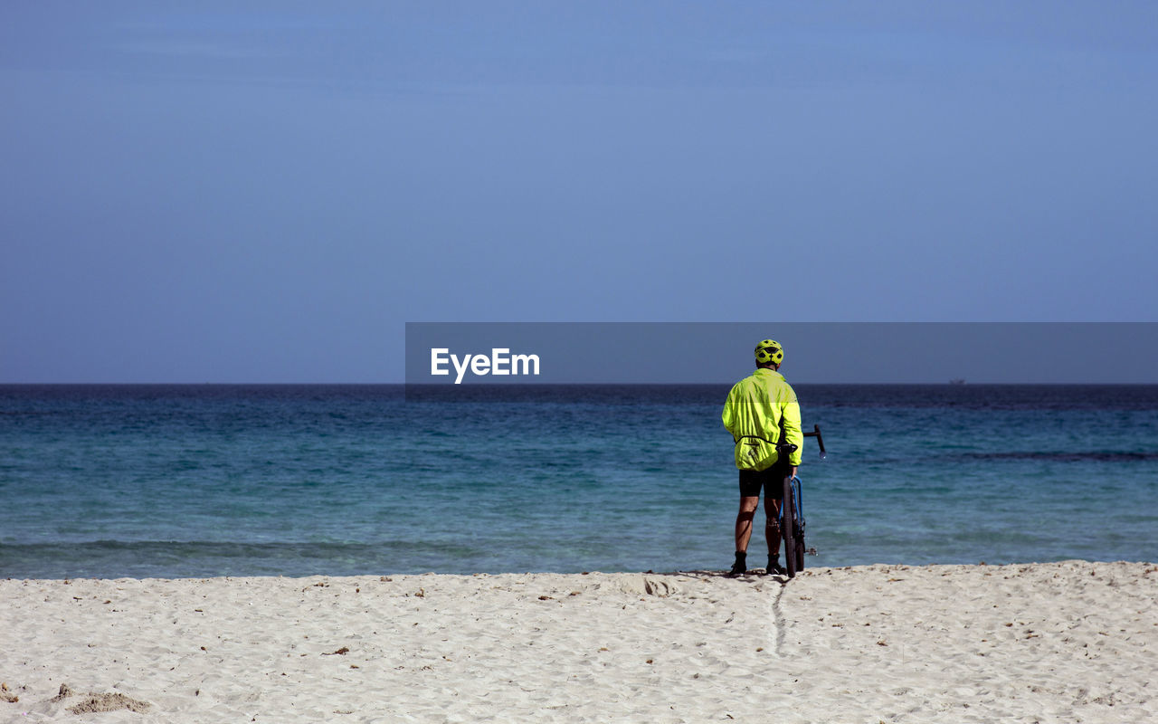
[[[0,722],[1158,722],[1144,563],[3,580],[0,600]]]

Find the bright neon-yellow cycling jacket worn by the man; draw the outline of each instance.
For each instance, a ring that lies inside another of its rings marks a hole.
[[[765,470],[778,459],[776,445],[797,446],[789,465],[800,465],[804,434],[800,432],[800,403],[784,375],[760,367],[732,387],[724,403],[724,426],[735,440],[735,467]],[[780,439],[783,430],[784,438]]]

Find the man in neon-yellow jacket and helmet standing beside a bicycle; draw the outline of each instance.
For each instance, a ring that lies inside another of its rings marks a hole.
[[[747,571],[752,521],[764,489],[764,537],[768,539],[768,573],[780,566],[780,502],[785,478],[796,475],[804,449],[800,404],[792,386],[779,373],[784,348],[775,339],[756,345],[756,371],[732,387],[724,403],[724,426],[735,441],[735,467],[740,470],[740,512],[735,517],[735,563],[730,576]],[[796,445],[779,454],[777,445]],[[791,555],[791,553],[789,553]]]

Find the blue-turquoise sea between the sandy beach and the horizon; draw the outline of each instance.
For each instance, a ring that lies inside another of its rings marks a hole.
[[[0,577],[724,570],[728,387],[0,386]],[[796,389],[807,566],[1158,561],[1158,386]]]

